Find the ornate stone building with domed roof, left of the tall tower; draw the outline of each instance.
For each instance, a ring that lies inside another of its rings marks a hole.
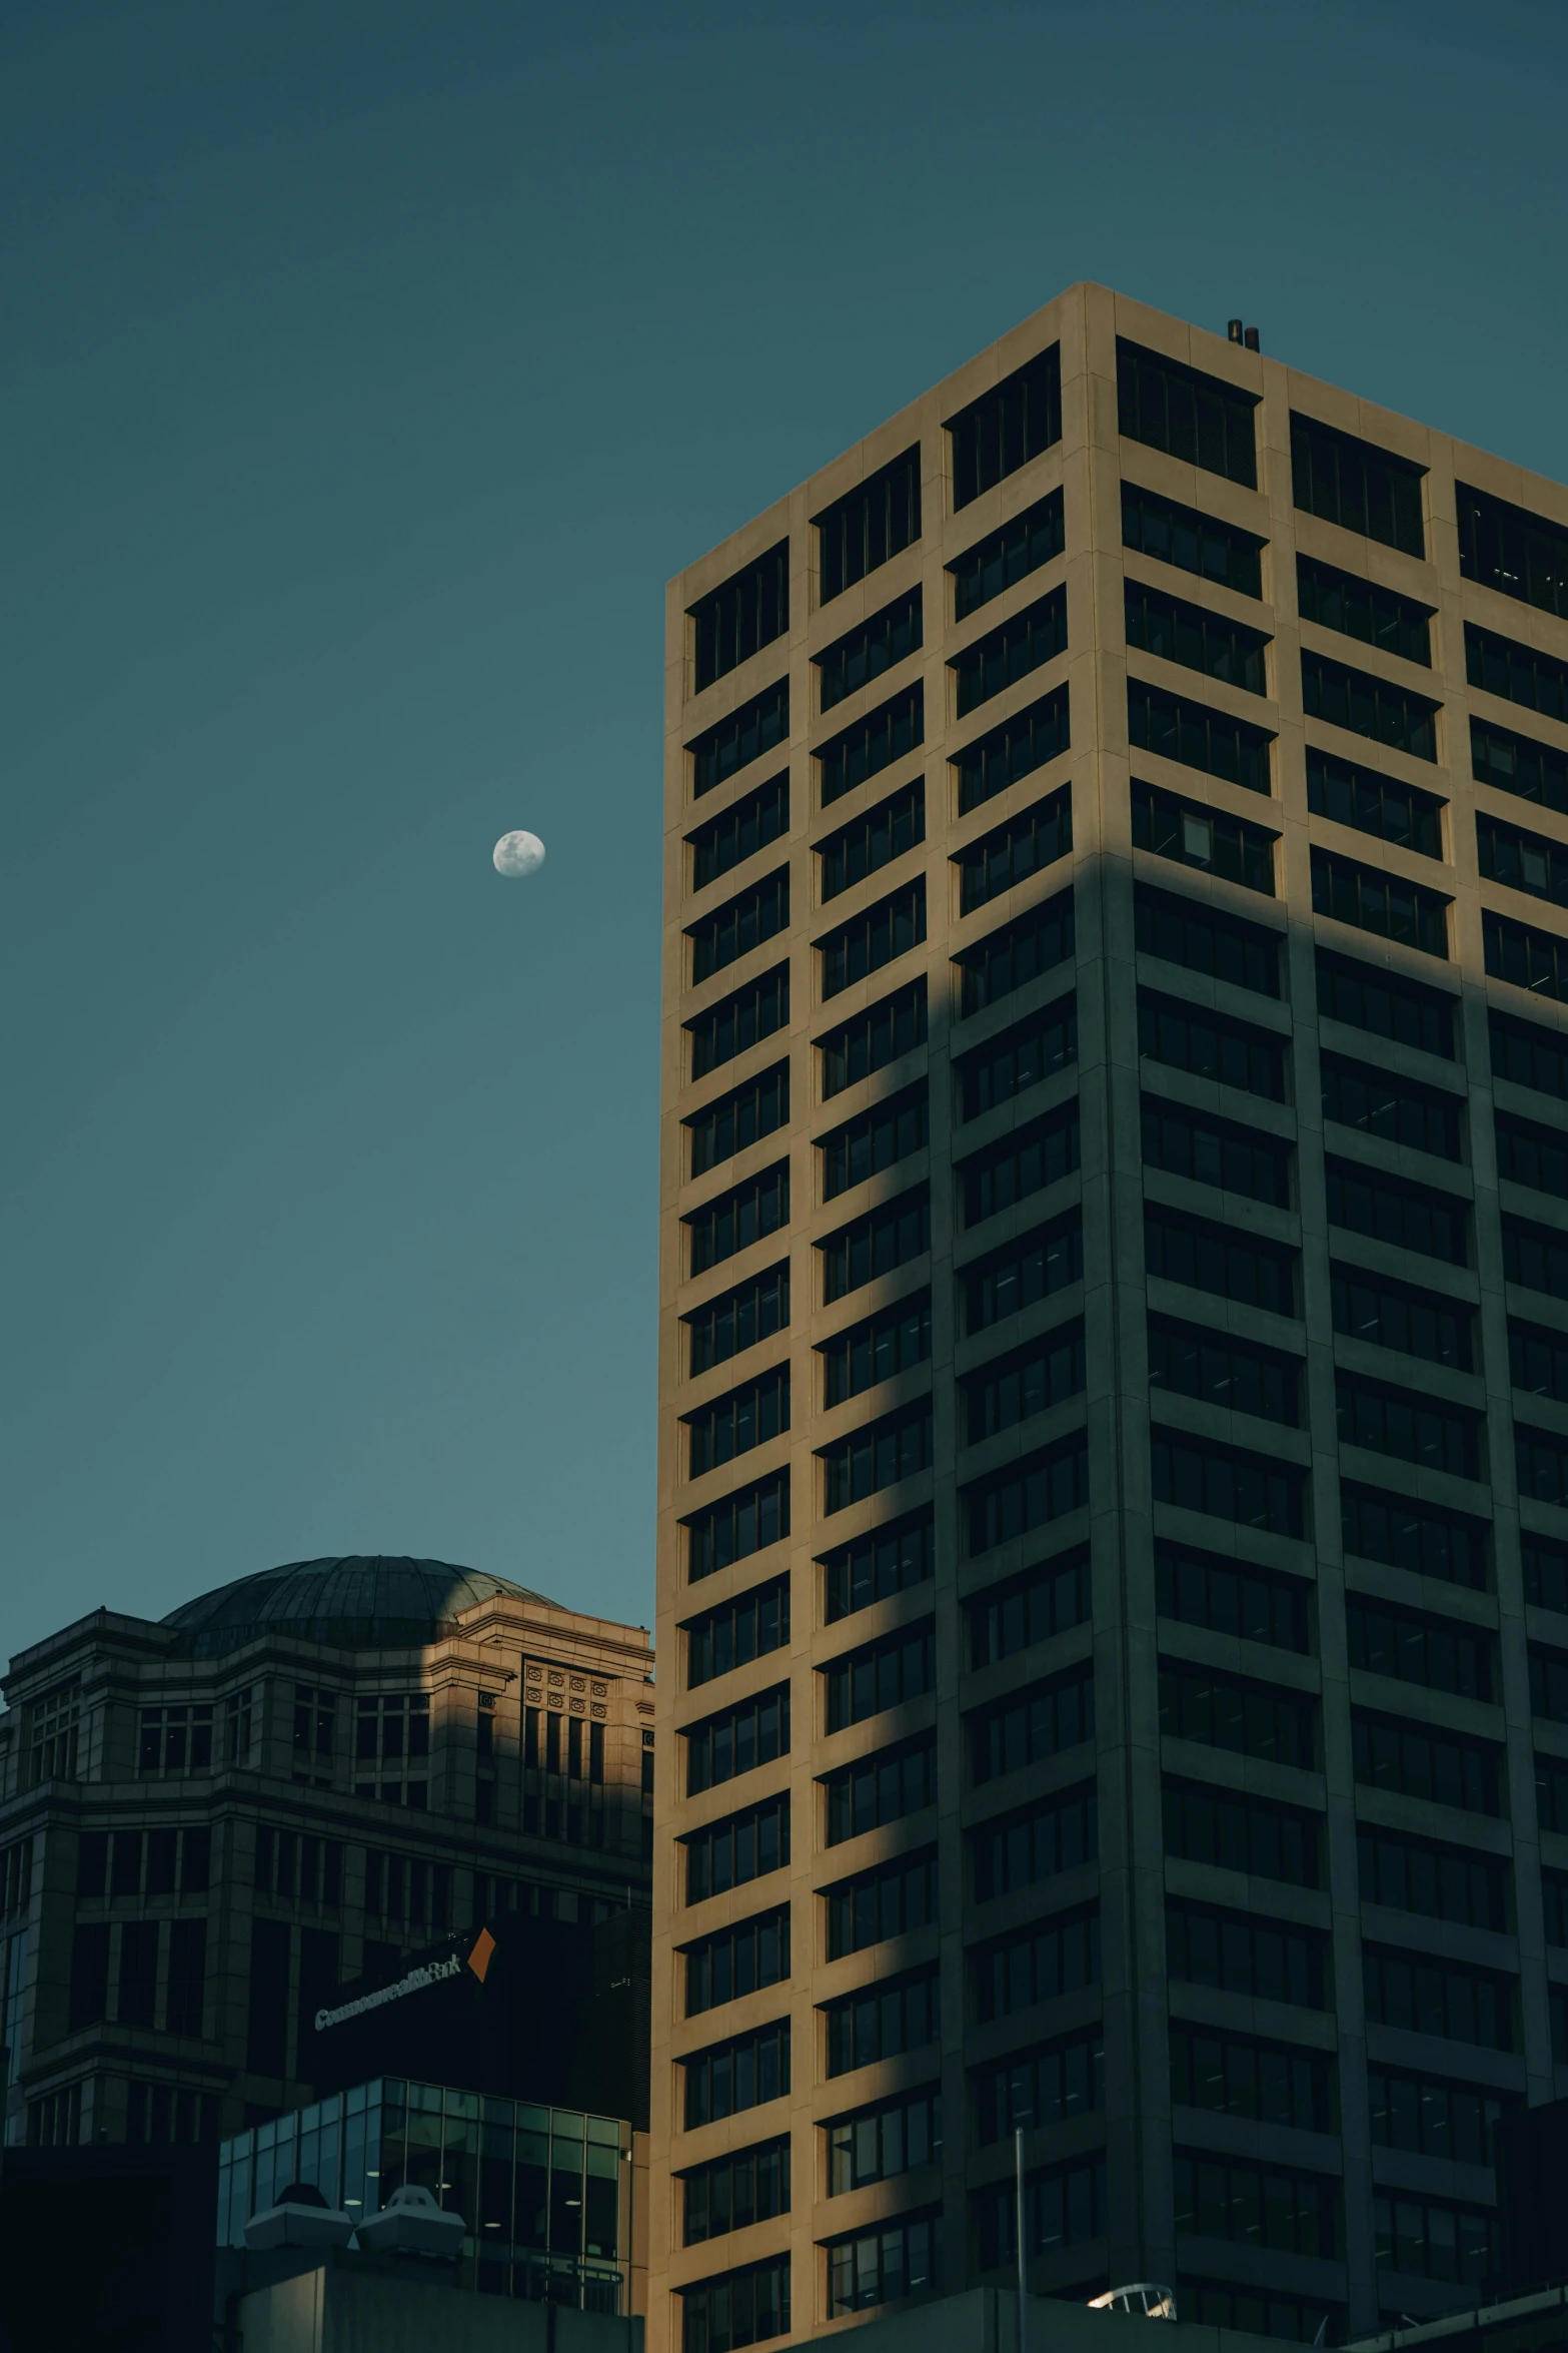
[[[21,1652],[7,2144],[219,2139],[313,2097],[334,1988],[470,1922],[646,1906],[651,1680],[644,1628],[381,1555]]]

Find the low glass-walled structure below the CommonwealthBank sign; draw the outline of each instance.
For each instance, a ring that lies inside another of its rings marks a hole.
[[[386,2075],[223,2141],[219,2245],[242,2247],[289,2181],[355,2217],[414,2181],[468,2224],[465,2287],[621,2313],[630,2155],[632,2127],[614,2115]]]

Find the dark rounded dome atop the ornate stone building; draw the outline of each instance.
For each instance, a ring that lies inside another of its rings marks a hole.
[[[282,1569],[237,1577],[172,1609],[165,1626],[181,1649],[214,1659],[259,1633],[301,1635],[334,1649],[409,1649],[442,1635],[461,1609],[494,1595],[559,1607],[510,1577],[458,1569],[449,1560],[400,1560],[348,1553],[343,1560],[292,1560]]]

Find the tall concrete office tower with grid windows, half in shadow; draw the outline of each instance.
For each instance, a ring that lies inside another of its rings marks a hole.
[[[675,581],[665,774],[656,2327],[1006,2280],[1016,2127],[1039,2292],[1474,2301],[1568,2089],[1568,492],[1081,285]]]

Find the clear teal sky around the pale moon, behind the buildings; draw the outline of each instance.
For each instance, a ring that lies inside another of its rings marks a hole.
[[[1559,0],[0,14],[0,1657],[651,1619],[668,574],[1074,278],[1568,475],[1566,87]]]

